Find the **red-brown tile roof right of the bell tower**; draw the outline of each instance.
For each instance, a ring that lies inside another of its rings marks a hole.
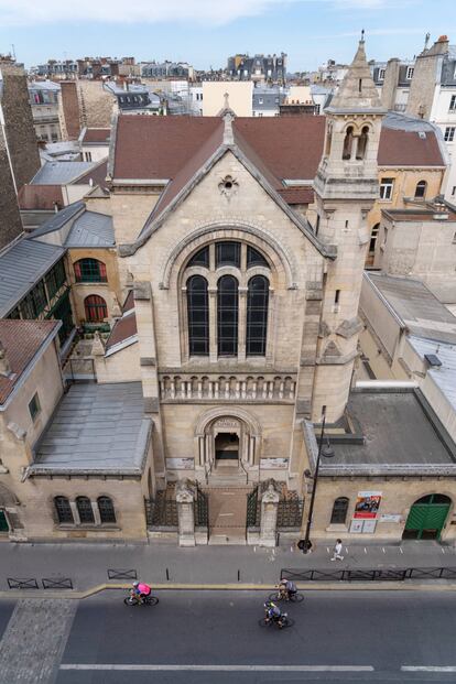
[[[416,131],[383,128],[380,134],[379,166],[444,166],[434,133],[420,138]]]

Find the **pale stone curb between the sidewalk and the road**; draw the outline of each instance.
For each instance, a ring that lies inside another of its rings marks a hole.
[[[272,591],[274,584],[154,584],[150,583],[153,590],[158,591]],[[312,582],[296,583],[301,591],[456,591],[456,583],[448,584],[405,584],[404,582]],[[109,589],[129,589],[129,584],[99,584],[84,591],[62,589],[11,589],[0,590],[1,599],[28,598],[65,598],[82,600]]]

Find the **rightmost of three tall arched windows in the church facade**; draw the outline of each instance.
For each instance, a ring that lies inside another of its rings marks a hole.
[[[268,334],[269,282],[264,275],[249,281],[247,296],[247,356],[264,356]]]

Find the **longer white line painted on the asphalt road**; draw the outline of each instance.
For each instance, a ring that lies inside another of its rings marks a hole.
[[[138,672],[373,672],[372,665],[133,665],[130,663],[63,663],[61,670],[120,670]]]

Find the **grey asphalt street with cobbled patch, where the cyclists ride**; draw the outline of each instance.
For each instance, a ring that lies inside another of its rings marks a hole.
[[[283,631],[258,625],[264,591],[167,590],[158,606],[134,608],[124,595],[106,591],[77,609],[18,601],[0,643],[1,684],[456,680],[447,591],[308,591],[286,606],[295,625]],[[10,615],[2,602],[0,626]]]

